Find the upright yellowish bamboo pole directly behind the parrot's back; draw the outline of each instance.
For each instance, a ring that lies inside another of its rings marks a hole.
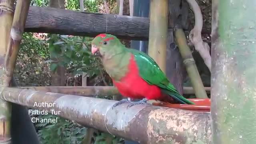
[[[166,44],[168,32],[168,0],[150,0],[148,55],[166,73]]]

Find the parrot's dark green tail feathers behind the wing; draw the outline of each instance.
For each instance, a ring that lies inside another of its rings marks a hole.
[[[194,104],[194,102],[191,102],[190,100],[184,98],[173,86],[172,84],[168,85],[168,88],[163,90],[164,93],[168,94],[181,104]]]

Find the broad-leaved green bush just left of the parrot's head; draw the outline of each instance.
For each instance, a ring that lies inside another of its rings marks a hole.
[[[59,66],[68,67],[72,73],[82,74],[86,72],[89,76],[98,75],[102,66],[98,58],[91,55],[88,48],[92,38],[79,36],[63,36],[51,34],[47,43],[49,44],[51,59],[47,62],[56,62]],[[52,63],[53,64],[53,63]],[[56,66],[50,66],[56,70]]]

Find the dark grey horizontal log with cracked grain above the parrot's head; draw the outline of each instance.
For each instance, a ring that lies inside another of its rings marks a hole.
[[[30,6],[25,32],[91,37],[108,33],[122,39],[148,40],[149,18]]]

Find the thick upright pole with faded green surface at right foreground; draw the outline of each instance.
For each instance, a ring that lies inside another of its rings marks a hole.
[[[255,0],[212,1],[212,139],[255,144]]]

